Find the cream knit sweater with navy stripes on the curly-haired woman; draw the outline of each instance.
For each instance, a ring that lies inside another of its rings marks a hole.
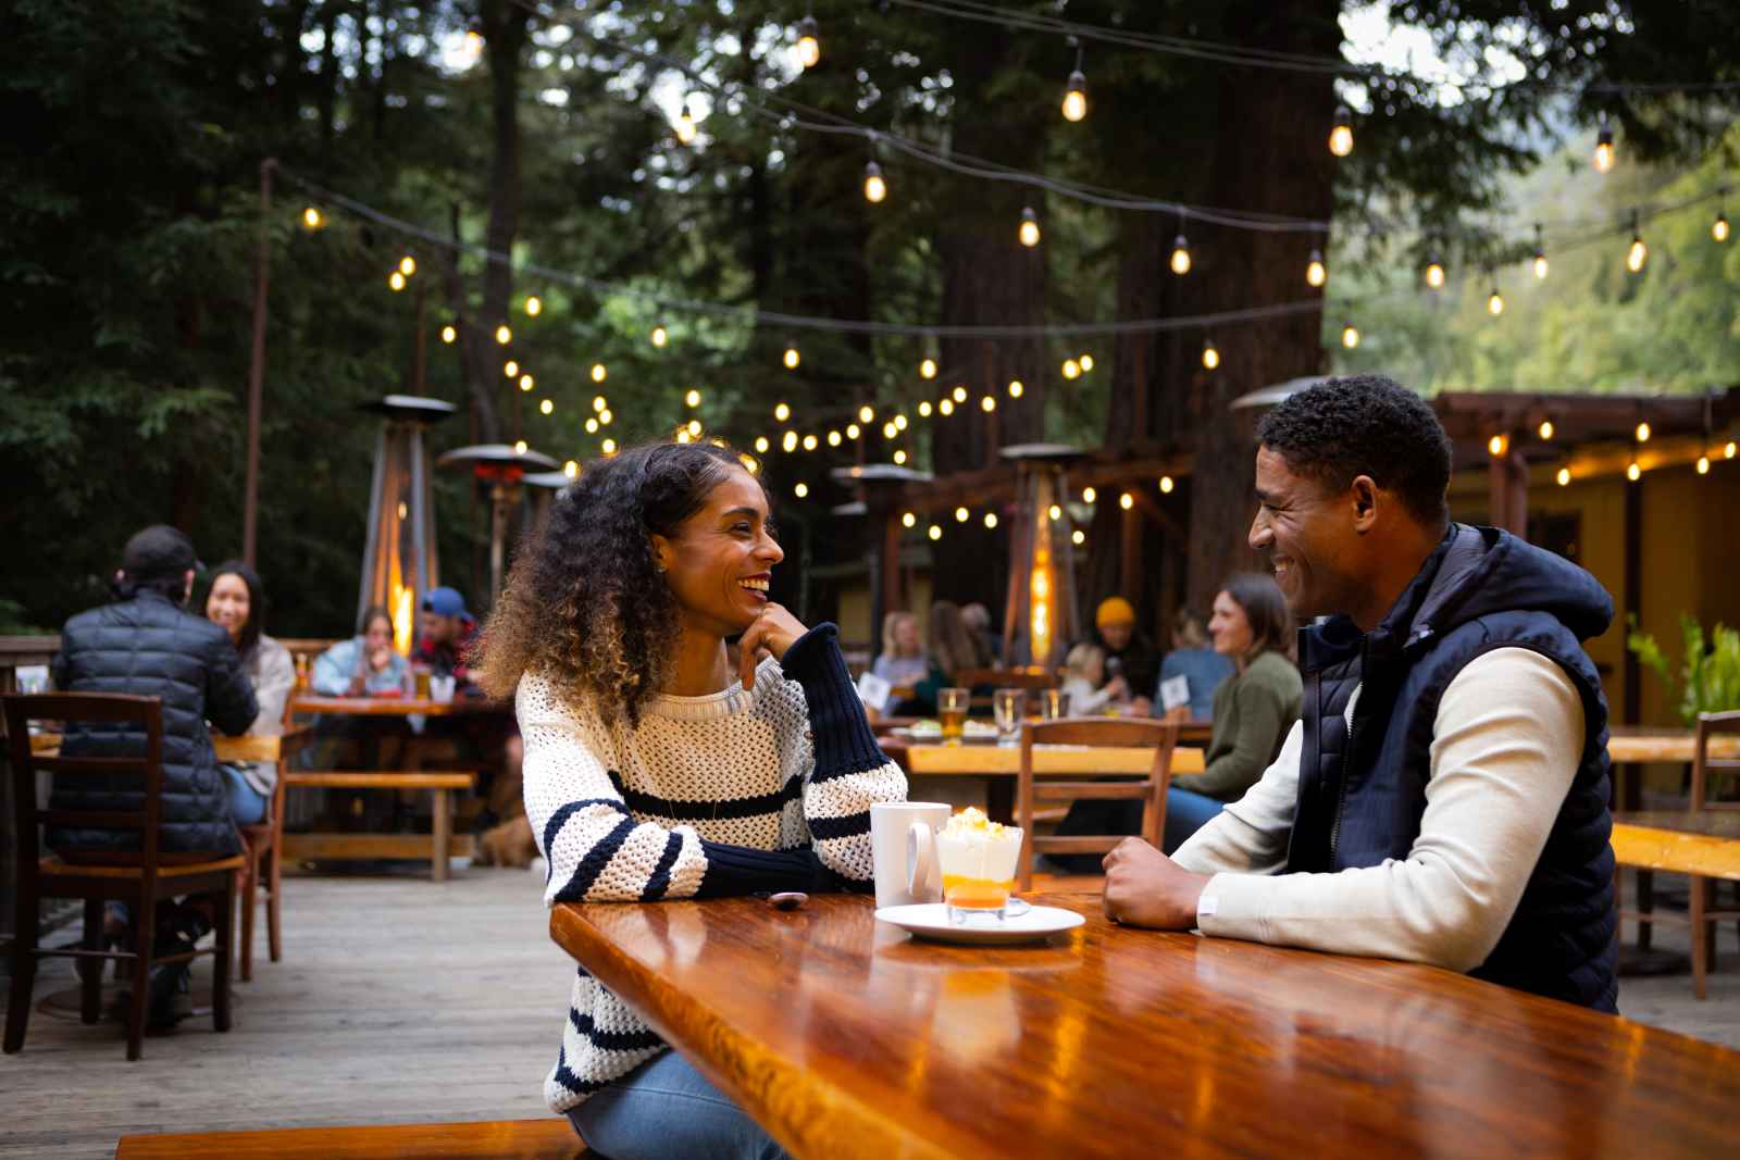
[[[532,673],[517,710],[546,906],[867,889],[870,805],[907,797],[833,624],[793,642],[783,666],[762,661],[748,690],[652,699],[639,729],[576,713]],[[665,1049],[581,969],[545,1099],[567,1111]]]

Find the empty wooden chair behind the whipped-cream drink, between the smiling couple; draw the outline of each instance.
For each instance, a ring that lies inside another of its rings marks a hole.
[[[1119,746],[1150,748],[1154,760],[1138,779],[1119,781],[1042,781],[1034,776],[1034,746]],[[1075,802],[1082,798],[1141,802],[1141,837],[1161,843],[1166,830],[1166,788],[1173,777],[1173,748],[1178,725],[1145,718],[1067,717],[1056,722],[1028,722],[1021,727],[1021,772],[1016,783],[1014,823],[1021,828],[1021,863],[1018,889],[1034,880],[1035,854],[1105,854],[1128,835],[1035,835],[1037,802]]]

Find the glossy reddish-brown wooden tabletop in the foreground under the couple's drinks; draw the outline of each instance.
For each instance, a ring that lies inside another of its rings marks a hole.
[[[799,1160],[1716,1157],[1740,1052],[1411,963],[1131,930],[912,943],[870,899],[557,906]]]

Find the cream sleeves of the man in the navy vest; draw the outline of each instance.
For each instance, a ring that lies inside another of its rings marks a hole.
[[[1583,704],[1566,673],[1528,649],[1496,649],[1444,689],[1420,837],[1404,859],[1277,875],[1298,786],[1300,729],[1281,758],[1176,861],[1213,873],[1202,934],[1470,970],[1510,923],[1571,788]]]

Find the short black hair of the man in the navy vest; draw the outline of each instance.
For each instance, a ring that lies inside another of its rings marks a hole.
[[[1449,520],[1449,437],[1425,400],[1389,376],[1328,379],[1289,395],[1263,416],[1256,438],[1333,490],[1369,475],[1422,523]]]

